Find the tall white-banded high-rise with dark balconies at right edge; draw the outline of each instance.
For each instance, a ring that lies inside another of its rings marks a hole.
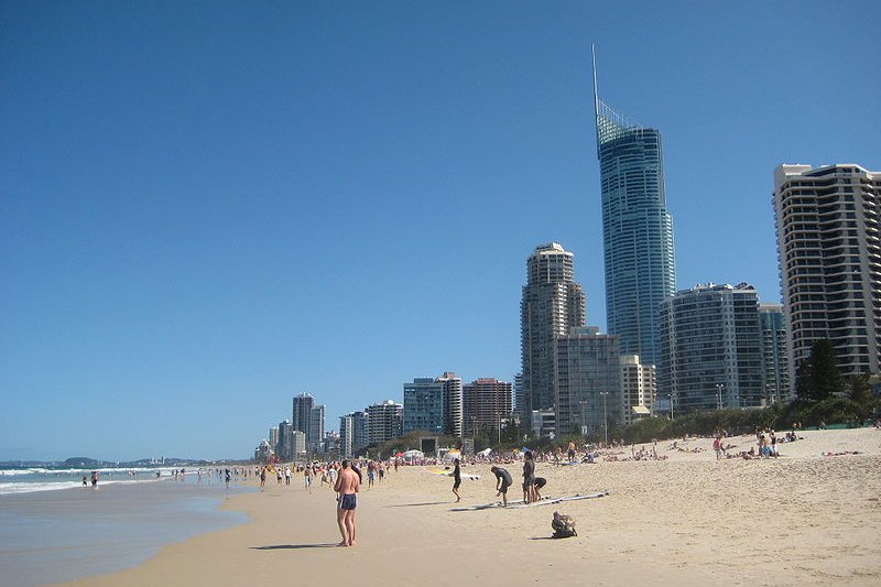
[[[790,384],[817,340],[845,376],[881,372],[881,173],[855,164],[774,171]]]

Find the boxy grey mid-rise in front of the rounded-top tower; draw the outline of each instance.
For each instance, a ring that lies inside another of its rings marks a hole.
[[[557,336],[556,435],[603,434],[623,421],[619,337],[596,326],[572,328]]]

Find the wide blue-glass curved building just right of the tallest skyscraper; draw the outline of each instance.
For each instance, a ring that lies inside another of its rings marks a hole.
[[[659,395],[677,411],[763,403],[759,295],[752,285],[697,285],[661,303]]]

